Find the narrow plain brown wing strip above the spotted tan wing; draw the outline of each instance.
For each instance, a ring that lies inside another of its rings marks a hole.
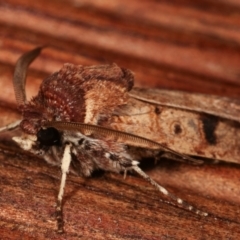
[[[207,113],[240,122],[240,100],[181,91],[134,88],[132,98],[162,106]]]

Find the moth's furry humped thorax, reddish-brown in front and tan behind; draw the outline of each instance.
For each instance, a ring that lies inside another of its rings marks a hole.
[[[32,100],[20,107],[21,129],[36,134],[46,121],[98,124],[121,105],[133,86],[133,74],[116,64],[63,68],[46,78]]]

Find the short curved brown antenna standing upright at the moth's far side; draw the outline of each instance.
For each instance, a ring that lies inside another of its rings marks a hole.
[[[16,63],[13,75],[13,87],[18,105],[26,102],[26,75],[28,66],[41,53],[43,47],[37,47],[23,54]]]

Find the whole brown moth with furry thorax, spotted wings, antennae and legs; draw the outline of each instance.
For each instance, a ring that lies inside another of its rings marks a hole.
[[[133,88],[132,72],[116,64],[69,63],[47,77],[37,96],[27,101],[27,69],[41,49],[17,61],[13,85],[23,119],[0,131],[20,128],[22,135],[13,140],[21,148],[61,166],[58,232],[63,232],[62,199],[69,171],[83,177],[97,169],[124,175],[134,171],[179,206],[207,216],[168,192],[138,164],[145,157],[202,162],[194,156],[240,163],[239,101]]]

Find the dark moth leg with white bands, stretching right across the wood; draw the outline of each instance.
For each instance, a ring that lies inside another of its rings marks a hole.
[[[143,172],[138,166],[132,166],[132,168],[136,173],[138,173],[141,177],[143,177],[146,181],[148,181],[152,186],[154,186],[159,192],[161,192],[162,194],[164,194],[165,196],[171,198],[172,200],[174,200],[175,202],[177,202],[178,205],[181,205],[184,209],[191,211],[191,212],[195,212],[196,214],[200,215],[200,216],[207,216],[208,213],[203,212],[201,210],[198,210],[196,208],[194,208],[193,206],[191,206],[189,203],[183,201],[181,198],[178,198],[177,196],[175,196],[172,193],[169,193],[168,190],[164,187],[162,187],[161,185],[159,185],[157,182],[155,182],[152,178],[150,178],[145,172]]]

